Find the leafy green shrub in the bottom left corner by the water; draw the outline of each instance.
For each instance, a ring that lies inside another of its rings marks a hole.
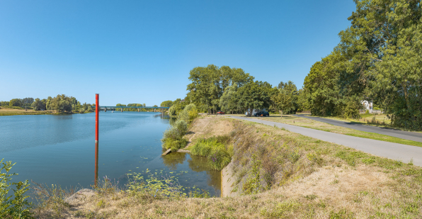
[[[32,218],[30,213],[32,203],[25,200],[29,197],[25,196],[25,192],[29,190],[30,184],[28,180],[11,183],[11,176],[18,174],[9,174],[14,164],[11,161],[3,162],[3,160],[0,161],[0,218]],[[16,186],[16,189],[12,189],[13,199],[12,196],[7,196],[11,186]]]

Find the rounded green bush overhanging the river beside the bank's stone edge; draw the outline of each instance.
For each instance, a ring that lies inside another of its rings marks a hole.
[[[171,151],[176,151],[185,147],[188,141],[183,138],[183,135],[185,135],[187,131],[188,123],[186,123],[185,120],[176,121],[173,127],[164,132],[163,139],[161,139],[163,147],[171,149]]]

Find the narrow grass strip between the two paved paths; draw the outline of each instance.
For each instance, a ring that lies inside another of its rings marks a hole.
[[[244,115],[234,115],[234,116],[244,116]],[[381,135],[377,133],[367,133],[360,130],[344,128],[344,127],[340,127],[336,125],[331,125],[328,123],[322,123],[322,122],[312,120],[309,118],[301,118],[301,117],[292,116],[292,115],[284,115],[283,118],[280,118],[280,115],[273,114],[268,117],[253,117],[253,118],[268,120],[268,121],[277,122],[277,123],[285,123],[289,125],[297,125],[304,128],[313,128],[313,129],[323,130],[323,131],[331,132],[331,133],[338,133],[338,134],[343,134],[343,135],[364,137],[364,138],[370,138],[374,140],[382,140],[385,142],[394,142],[394,143],[399,143],[399,144],[404,144],[404,145],[413,145],[413,146],[422,147],[422,142],[405,140],[399,137],[392,137],[389,135]]]

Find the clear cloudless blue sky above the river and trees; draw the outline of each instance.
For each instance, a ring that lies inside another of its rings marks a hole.
[[[146,103],[186,96],[189,71],[240,67],[302,87],[350,26],[352,0],[0,0],[0,101],[75,96]]]

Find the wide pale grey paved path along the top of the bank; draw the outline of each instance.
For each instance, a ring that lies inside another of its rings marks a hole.
[[[338,133],[329,133],[321,130],[315,130],[312,128],[303,128],[295,125],[287,125],[283,123],[275,123],[266,120],[259,120],[256,118],[246,118],[239,116],[229,116],[231,118],[248,120],[255,123],[261,123],[264,125],[277,126],[278,128],[286,128],[293,133],[299,133],[326,142],[333,142],[338,145],[344,145],[347,147],[353,147],[356,150],[377,155],[380,157],[387,157],[389,159],[400,160],[405,163],[409,163],[411,159],[414,159],[414,165],[422,167],[422,147],[416,147],[411,145],[401,145],[392,142],[384,142],[380,140],[372,140],[363,137],[354,137],[349,135],[341,135]]]

